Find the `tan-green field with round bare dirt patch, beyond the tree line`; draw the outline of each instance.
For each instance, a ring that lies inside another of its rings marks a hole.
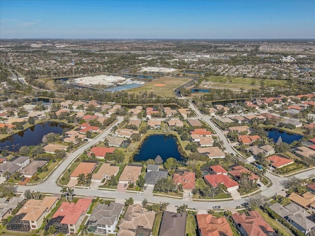
[[[135,89],[129,89],[126,90],[126,92],[136,94],[140,91],[147,91],[148,93],[154,92],[163,97],[174,97],[174,90],[188,83],[189,81],[191,81],[189,78],[162,77],[151,82],[145,82],[144,86]]]

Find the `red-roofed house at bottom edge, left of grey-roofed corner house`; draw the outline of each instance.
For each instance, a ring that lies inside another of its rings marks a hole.
[[[248,213],[249,216],[245,213],[232,214],[232,219],[242,236],[269,236],[270,234],[267,235],[264,232],[275,232],[257,211]]]

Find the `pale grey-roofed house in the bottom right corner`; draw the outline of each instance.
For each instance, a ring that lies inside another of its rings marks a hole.
[[[305,235],[309,234],[310,231],[315,230],[315,223],[309,219],[312,217],[312,215],[295,203],[290,203],[285,206],[275,203],[269,208],[284,218],[295,228],[302,231]]]

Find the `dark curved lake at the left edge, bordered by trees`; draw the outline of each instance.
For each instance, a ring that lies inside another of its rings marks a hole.
[[[41,143],[44,135],[48,133],[62,134],[66,128],[63,123],[48,121],[42,124],[36,124],[25,131],[11,135],[0,141],[0,149],[8,151],[19,151],[22,146],[36,146]]]

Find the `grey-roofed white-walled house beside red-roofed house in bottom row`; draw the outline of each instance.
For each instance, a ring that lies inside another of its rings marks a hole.
[[[88,220],[88,231],[105,235],[114,233],[118,220],[123,213],[124,204],[98,204]]]

